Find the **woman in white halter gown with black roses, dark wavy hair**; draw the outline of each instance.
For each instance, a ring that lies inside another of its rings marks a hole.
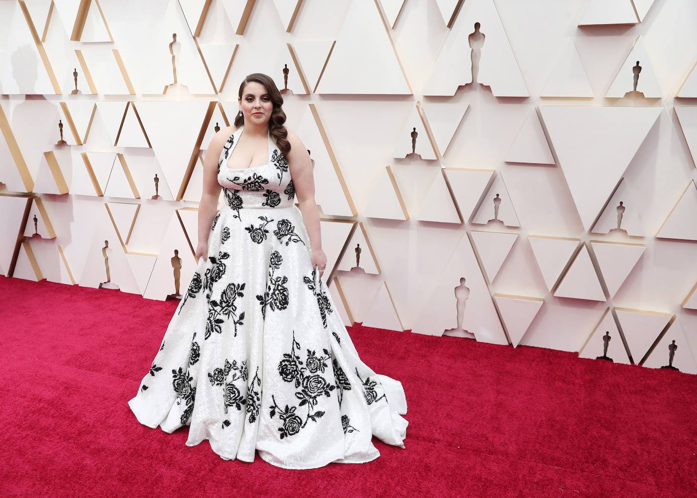
[[[206,152],[198,268],[128,405],[148,427],[190,426],[187,446],[208,439],[224,460],[368,462],[373,435],[404,448],[401,382],[362,363],[320,279],[312,163],[283,98],[254,73],[238,102]]]

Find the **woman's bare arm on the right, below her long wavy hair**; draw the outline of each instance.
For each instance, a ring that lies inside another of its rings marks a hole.
[[[298,198],[298,209],[302,213],[302,219],[305,221],[305,228],[307,228],[307,234],[309,235],[310,247],[312,249],[312,265],[323,270],[327,264],[327,257],[322,250],[319,208],[314,200],[312,161],[300,137],[290,130],[288,131],[288,141],[291,143],[291,150],[286,159],[288,160],[293,187],[295,187],[296,197]]]

